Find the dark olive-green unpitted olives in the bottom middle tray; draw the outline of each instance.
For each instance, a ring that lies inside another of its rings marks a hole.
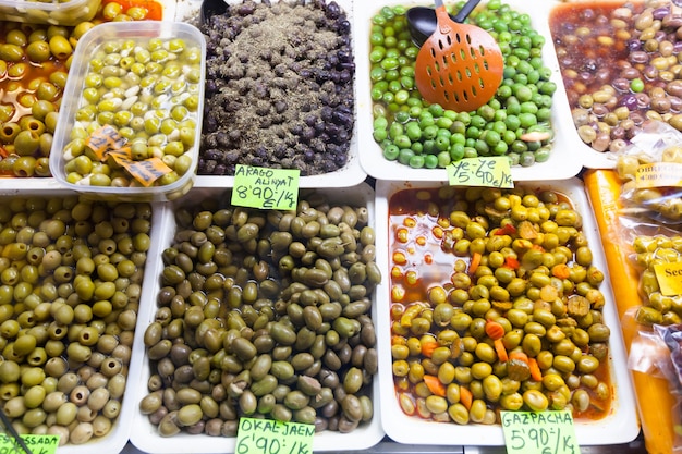
[[[367,208],[313,193],[295,211],[207,199],[175,217],[144,336],[139,408],[159,434],[233,437],[241,416],[340,432],[368,421],[381,277]]]

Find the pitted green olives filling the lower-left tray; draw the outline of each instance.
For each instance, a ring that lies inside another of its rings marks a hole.
[[[125,390],[148,204],[0,201],[0,404],[19,433],[106,435]]]

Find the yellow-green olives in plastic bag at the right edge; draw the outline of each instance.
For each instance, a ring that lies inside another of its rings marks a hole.
[[[650,327],[682,323],[682,296],[661,293],[655,271],[657,265],[682,261],[682,236],[637,236],[633,243],[636,263],[641,267],[640,292],[643,305],[637,308],[635,320]]]

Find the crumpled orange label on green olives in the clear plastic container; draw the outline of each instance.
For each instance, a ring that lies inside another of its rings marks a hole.
[[[95,152],[100,161],[111,157],[145,187],[151,186],[155,181],[173,171],[160,158],[133,160],[131,148],[126,146],[126,142],[125,137],[122,137],[114,127],[105,124],[90,134],[85,145]]]

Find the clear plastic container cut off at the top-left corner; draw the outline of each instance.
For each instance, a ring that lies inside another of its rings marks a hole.
[[[0,20],[32,24],[77,25],[97,14],[101,0],[0,0]]]

